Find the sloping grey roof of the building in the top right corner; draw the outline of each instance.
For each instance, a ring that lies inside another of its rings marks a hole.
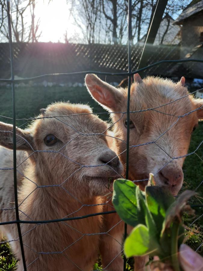
[[[194,3],[194,4],[193,4]],[[193,14],[203,10],[203,0],[197,1],[193,0],[186,9],[183,10],[183,12],[180,14],[180,16],[174,21],[176,24],[181,24],[183,20],[186,18],[192,16]]]

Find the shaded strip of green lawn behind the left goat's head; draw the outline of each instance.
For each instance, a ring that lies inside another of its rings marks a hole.
[[[0,88],[0,115],[12,118],[12,93],[10,88]],[[65,88],[60,86],[42,87],[28,86],[16,89],[16,118],[29,118],[39,114],[41,108],[45,108],[54,101],[70,101],[71,103],[88,104],[94,107],[94,113],[106,112],[97,104],[84,87]],[[108,114],[101,114],[104,120],[108,120]],[[10,122],[0,117],[0,121]],[[25,121],[18,121],[17,125]]]

